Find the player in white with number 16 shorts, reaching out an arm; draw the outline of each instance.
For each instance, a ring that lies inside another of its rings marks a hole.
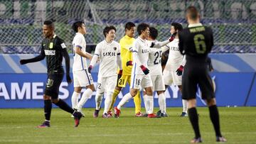
[[[132,82],[130,85],[130,91],[128,94],[124,95],[117,107],[114,108],[114,116],[116,118],[118,118],[121,113],[121,106],[129,101],[129,99],[132,99],[132,97],[134,97],[137,92],[139,92],[140,87],[146,90],[146,96],[144,96],[144,101],[148,106],[148,118],[158,117],[154,114],[154,99],[152,92],[153,84],[151,82],[151,77],[149,76],[149,69],[146,68],[147,62],[149,60],[149,47],[161,48],[161,46],[169,43],[171,38],[164,42],[151,44],[147,43],[146,38],[149,37],[149,25],[147,25],[146,23],[139,24],[139,26],[137,27],[137,32],[139,33],[139,37],[134,41],[132,46],[132,57],[134,60],[134,64],[132,67]]]

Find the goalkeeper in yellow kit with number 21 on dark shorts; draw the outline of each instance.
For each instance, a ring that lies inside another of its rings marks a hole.
[[[132,48],[132,44],[134,43],[136,27],[132,22],[128,22],[125,24],[125,35],[121,38],[119,44],[121,45],[121,59],[122,59],[122,77],[118,75],[117,78],[117,87],[114,89],[114,94],[112,95],[112,104],[110,105],[109,111],[112,111],[114,106],[114,102],[117,99],[117,95],[122,90],[125,85],[131,83],[131,74],[132,74],[132,66],[127,66],[127,63],[132,63],[132,52],[129,51],[129,48]],[[120,73],[120,72],[119,72]],[[134,96],[134,104],[135,104],[135,116],[143,116],[142,110],[142,99],[140,97],[139,92],[136,96]]]

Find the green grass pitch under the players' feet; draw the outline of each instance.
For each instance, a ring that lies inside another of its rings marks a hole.
[[[219,110],[228,143],[256,143],[256,107]],[[51,127],[36,128],[43,109],[0,109],[0,143],[189,143],[193,138],[188,118],[179,117],[181,108],[168,109],[168,118],[135,118],[133,108],[122,109],[120,118],[93,118],[93,111],[83,109],[86,117],[74,128],[69,113],[53,109]],[[198,113],[203,143],[215,143],[208,109]]]

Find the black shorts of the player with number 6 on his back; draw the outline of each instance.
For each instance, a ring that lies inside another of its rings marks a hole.
[[[205,63],[186,63],[182,76],[182,99],[196,99],[196,91],[201,89],[202,99],[213,99],[213,81]]]

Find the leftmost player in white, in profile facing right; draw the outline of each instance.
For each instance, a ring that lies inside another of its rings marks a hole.
[[[74,109],[82,112],[82,106],[87,99],[90,98],[92,92],[95,91],[93,85],[92,75],[87,70],[86,59],[92,59],[92,55],[85,51],[86,42],[84,35],[86,34],[85,24],[82,21],[73,23],[73,30],[76,32],[73,39],[73,78],[74,78],[74,92],[71,98],[72,106]],[[78,97],[81,93],[82,87],[86,87],[83,92],[80,101]]]

